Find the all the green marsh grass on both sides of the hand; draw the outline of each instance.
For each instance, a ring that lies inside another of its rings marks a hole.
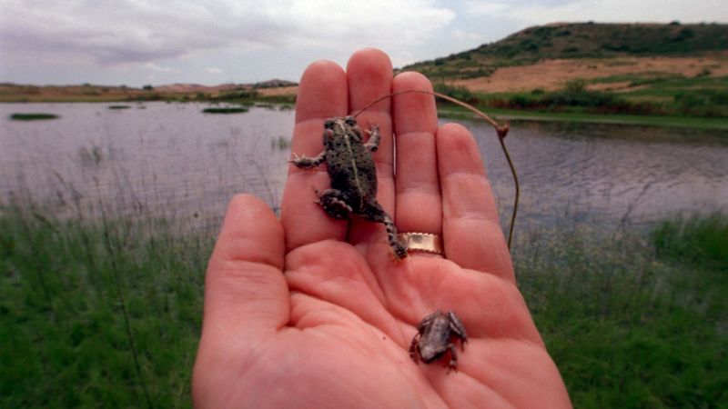
[[[728,402],[728,217],[517,235],[521,291],[576,407]],[[213,237],[0,207],[0,407],[188,407]]]

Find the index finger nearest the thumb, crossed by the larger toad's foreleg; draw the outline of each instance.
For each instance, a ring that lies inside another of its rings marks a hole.
[[[332,116],[347,115],[349,107],[344,71],[329,61],[308,65],[298,85],[296,126],[291,151],[313,157],[323,151],[323,123]],[[281,223],[288,250],[319,240],[346,238],[347,224],[337,221],[316,204],[316,190],[329,188],[326,165],[315,169],[288,168],[281,204]]]

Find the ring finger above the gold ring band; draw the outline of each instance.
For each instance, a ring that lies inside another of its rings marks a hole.
[[[412,89],[431,92],[432,85],[418,73],[403,73],[394,78],[393,92]],[[435,150],[435,98],[412,93],[395,95],[393,99],[399,231],[440,234],[442,202]]]

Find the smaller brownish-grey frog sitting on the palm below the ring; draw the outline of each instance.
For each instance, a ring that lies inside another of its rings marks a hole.
[[[465,343],[468,342],[468,334],[460,322],[460,318],[453,311],[447,314],[440,310],[428,315],[417,326],[417,334],[412,338],[410,344],[410,358],[415,363],[420,359],[425,364],[439,359],[446,352],[450,352],[450,370],[458,370],[458,354],[455,352],[455,345],[452,338],[460,338],[460,348],[465,351]]]

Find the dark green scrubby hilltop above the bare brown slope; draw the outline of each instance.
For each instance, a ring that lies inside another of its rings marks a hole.
[[[728,25],[557,23],[529,27],[472,50],[407,65],[430,77],[474,78],[548,58],[700,56],[728,51]]]

